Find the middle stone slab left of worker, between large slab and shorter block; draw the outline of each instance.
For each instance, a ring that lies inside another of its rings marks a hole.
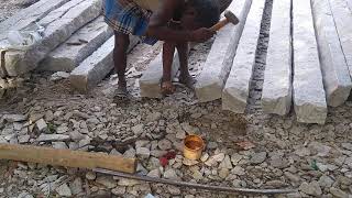
[[[99,16],[51,52],[37,69],[72,72],[112,34],[113,31],[103,21],[103,16]]]

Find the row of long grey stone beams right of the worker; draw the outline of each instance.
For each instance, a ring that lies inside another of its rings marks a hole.
[[[248,107],[264,0],[235,1],[241,24],[217,35],[198,77],[200,102],[222,100],[223,110]],[[297,121],[326,122],[328,106],[351,95],[352,11],[346,0],[273,1],[270,42],[261,97],[264,112]],[[230,8],[231,9],[231,8]]]

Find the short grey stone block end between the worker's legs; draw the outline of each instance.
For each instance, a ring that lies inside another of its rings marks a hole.
[[[189,47],[188,47],[189,48]],[[178,53],[174,55],[172,65],[172,79],[176,77],[179,69]],[[140,78],[141,97],[143,98],[162,98],[161,81],[163,77],[163,52],[161,52],[143,72]]]

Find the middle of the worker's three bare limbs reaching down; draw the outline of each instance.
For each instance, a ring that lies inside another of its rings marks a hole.
[[[163,79],[162,79],[162,92],[164,95],[170,95],[175,91],[175,87],[172,81],[172,65],[174,61],[175,43],[165,42],[163,45]]]

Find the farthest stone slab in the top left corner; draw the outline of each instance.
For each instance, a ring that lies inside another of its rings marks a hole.
[[[19,11],[0,23],[0,41],[7,38],[9,31],[25,29],[68,1],[70,0],[41,0]]]

